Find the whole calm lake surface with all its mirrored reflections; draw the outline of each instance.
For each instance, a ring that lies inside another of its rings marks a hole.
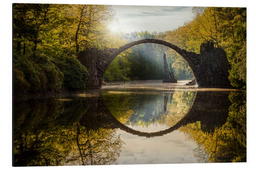
[[[246,94],[187,82],[14,102],[14,165],[245,162]]]

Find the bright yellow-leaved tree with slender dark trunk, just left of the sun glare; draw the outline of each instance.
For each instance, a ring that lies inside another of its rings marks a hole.
[[[63,27],[66,31],[61,34],[75,47],[76,54],[97,46],[114,16],[112,8],[106,5],[68,5],[65,13],[67,22]]]

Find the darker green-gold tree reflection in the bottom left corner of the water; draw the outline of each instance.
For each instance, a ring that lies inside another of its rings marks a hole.
[[[14,140],[15,166],[60,165],[69,153],[71,145],[66,141],[69,129],[55,127],[33,133],[24,132]]]

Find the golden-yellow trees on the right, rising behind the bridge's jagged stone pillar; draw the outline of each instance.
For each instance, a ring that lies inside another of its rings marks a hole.
[[[245,88],[246,8],[193,8],[193,12],[194,19],[174,31],[167,31],[165,40],[187,51],[199,53],[202,41],[211,39],[227,54],[231,65],[231,85]],[[177,66],[184,65],[184,62],[181,63]]]

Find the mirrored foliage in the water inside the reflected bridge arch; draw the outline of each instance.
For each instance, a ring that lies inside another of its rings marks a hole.
[[[187,113],[194,95],[195,91],[176,91],[164,95],[140,92],[112,95],[105,91],[103,98],[110,112],[122,124],[148,126],[168,123],[174,126]]]

